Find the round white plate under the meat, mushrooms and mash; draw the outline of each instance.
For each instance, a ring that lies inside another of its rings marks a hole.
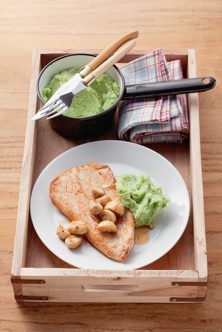
[[[133,245],[124,262],[116,262],[86,240],[70,250],[56,235],[58,224],[68,226],[68,218],[51,202],[49,185],[56,175],[88,162],[109,165],[113,174],[151,174],[156,186],[171,199],[156,217],[148,244]],[[123,141],[96,141],[74,147],[55,158],[37,179],[31,196],[30,211],[35,230],[42,242],[63,261],[83,269],[130,270],[146,266],[166,254],[179,240],[187,225],[190,202],[186,185],[176,168],[160,154],[141,145]],[[50,234],[50,236],[48,235]]]

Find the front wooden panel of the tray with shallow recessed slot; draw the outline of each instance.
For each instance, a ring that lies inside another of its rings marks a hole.
[[[45,284],[30,283],[39,276]],[[196,286],[171,286],[172,280],[197,281],[197,271],[158,270],[147,275],[146,271],[134,270],[130,276],[128,271],[122,271],[121,278],[118,276],[119,271],[24,268],[21,278],[28,278],[29,282],[22,285],[21,291],[26,296],[47,294],[49,301],[61,302],[169,302],[171,296],[195,298],[197,294]]]

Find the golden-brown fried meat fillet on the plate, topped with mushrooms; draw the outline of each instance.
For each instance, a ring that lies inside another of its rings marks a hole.
[[[117,217],[117,234],[97,230],[99,217],[89,210],[92,187],[99,186],[110,198],[119,200],[115,179],[109,166],[88,163],[68,169],[55,177],[50,184],[52,203],[71,220],[83,220],[88,226],[86,238],[108,257],[123,261],[133,245],[134,218],[129,209]]]

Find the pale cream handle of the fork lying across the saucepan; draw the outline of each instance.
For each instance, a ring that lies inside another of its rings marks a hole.
[[[128,44],[124,45],[109,59],[107,59],[104,63],[102,63],[96,70],[94,70],[91,74],[87,75],[83,79],[83,83],[89,86],[91,83],[93,83],[93,81],[95,81],[95,79],[97,79],[100,75],[102,75],[113,64],[118,62],[128,51],[130,51],[130,49],[132,49],[135,46],[135,44],[136,41],[130,41]]]

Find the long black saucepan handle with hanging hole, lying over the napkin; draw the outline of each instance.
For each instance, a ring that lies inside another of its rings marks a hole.
[[[208,80],[208,82],[204,83],[204,80]],[[215,86],[216,80],[211,76],[126,85],[122,99],[153,98],[166,95],[180,95],[182,93],[203,92],[213,89]]]

